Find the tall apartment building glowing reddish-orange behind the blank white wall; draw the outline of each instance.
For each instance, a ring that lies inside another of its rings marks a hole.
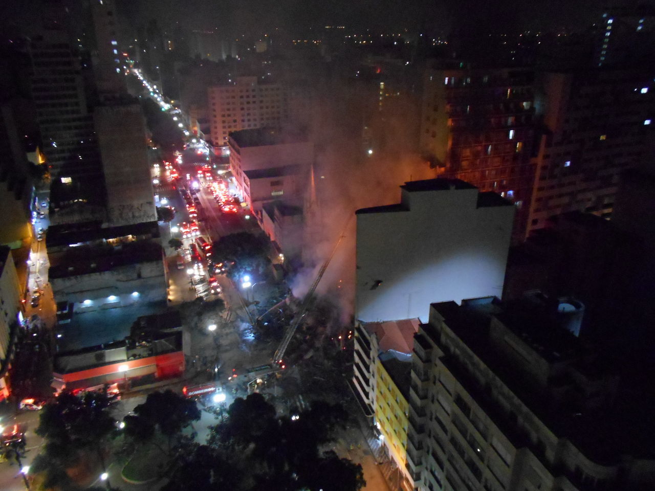
[[[424,73],[419,145],[441,177],[495,191],[527,219],[534,172],[534,73],[433,64]]]

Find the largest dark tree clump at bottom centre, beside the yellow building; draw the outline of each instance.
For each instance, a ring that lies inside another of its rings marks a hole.
[[[207,445],[179,462],[162,491],[358,491],[365,485],[362,466],[321,450],[346,420],[339,405],[314,403],[277,416],[259,393],[238,398],[211,428]]]

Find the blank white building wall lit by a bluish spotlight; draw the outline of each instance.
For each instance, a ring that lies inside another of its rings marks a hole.
[[[477,189],[402,192],[407,211],[357,214],[356,318],[426,322],[432,302],[500,297],[514,207],[477,208]]]

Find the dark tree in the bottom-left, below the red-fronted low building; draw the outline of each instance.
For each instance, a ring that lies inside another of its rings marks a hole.
[[[90,454],[105,469],[105,443],[115,431],[107,395],[91,391],[78,397],[64,392],[41,412],[35,432],[45,445],[32,470],[43,474],[45,487],[71,486],[65,469],[88,462]]]

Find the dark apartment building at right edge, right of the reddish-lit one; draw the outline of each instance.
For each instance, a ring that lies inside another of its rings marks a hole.
[[[620,173],[645,158],[655,128],[655,72],[593,69],[542,73],[527,234],[568,211],[610,218]],[[654,122],[654,123],[652,123]]]

